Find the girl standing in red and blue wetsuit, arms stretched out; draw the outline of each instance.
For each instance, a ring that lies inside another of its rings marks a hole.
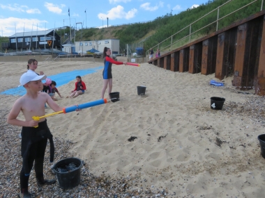
[[[103,69],[103,90],[101,93],[101,98],[104,99],[104,94],[109,85],[109,93],[112,92],[112,63],[115,65],[127,65],[126,62],[115,61],[109,56],[112,54],[112,51],[108,47],[104,47],[103,56],[104,56],[104,69]]]

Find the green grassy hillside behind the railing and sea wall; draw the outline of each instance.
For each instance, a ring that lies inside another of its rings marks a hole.
[[[202,36],[207,35],[216,31],[216,22],[218,15],[218,6],[226,3],[228,0],[212,0],[200,5],[197,8],[185,10],[177,15],[172,15],[172,13],[167,13],[162,17],[154,19],[152,22],[146,23],[135,23],[123,26],[110,26],[108,28],[86,28],[81,31],[77,31],[77,36],[75,41],[79,40],[103,40],[103,39],[119,39],[121,49],[126,48],[126,44],[137,44],[141,40],[148,38],[144,41],[144,48],[150,49],[151,47],[160,44],[159,48],[164,48],[165,50],[170,50],[170,44],[173,43],[172,49],[181,47],[183,44],[187,44],[192,40],[202,38]],[[233,0],[222,6],[219,10],[219,19],[234,12],[235,10],[245,6],[246,4],[254,0]],[[237,20],[248,17],[249,15],[259,12],[262,0],[259,0],[247,8],[243,8],[238,12],[220,19],[218,22],[218,30],[236,22]],[[210,13],[212,10],[212,13]],[[198,20],[207,13],[210,13],[206,17]],[[193,24],[192,24],[193,23]],[[213,23],[213,24],[211,24]],[[190,24],[192,35],[190,33]],[[211,24],[211,25],[209,25]],[[208,26],[209,25],[209,26]],[[203,28],[206,26],[205,28]],[[203,28],[202,30],[199,30]],[[183,29],[183,31],[181,31]],[[181,31],[181,32],[179,32]],[[174,35],[175,33],[178,34]],[[173,35],[173,36],[172,36]],[[169,38],[171,37],[172,38]],[[184,38],[186,37],[186,38]],[[166,40],[169,38],[168,40]],[[182,39],[184,38],[184,39]]]

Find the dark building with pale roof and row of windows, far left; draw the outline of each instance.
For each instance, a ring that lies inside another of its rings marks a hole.
[[[15,51],[34,49],[61,50],[61,38],[54,29],[15,33],[9,37],[8,49]]]

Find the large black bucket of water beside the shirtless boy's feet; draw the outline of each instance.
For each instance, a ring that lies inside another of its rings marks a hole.
[[[52,167],[60,188],[69,189],[79,185],[82,165],[79,158],[66,158]]]

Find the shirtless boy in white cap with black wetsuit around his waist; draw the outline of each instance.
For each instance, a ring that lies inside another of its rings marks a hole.
[[[33,116],[40,117],[45,115],[45,103],[54,111],[63,110],[63,108],[58,106],[48,94],[40,92],[43,86],[41,80],[45,78],[45,75],[38,76],[38,74],[34,72],[22,74],[20,85],[26,88],[27,93],[15,101],[7,119],[8,124],[22,126],[21,148],[23,164],[20,172],[20,198],[33,197],[28,191],[28,185],[29,174],[34,161],[34,170],[36,172],[38,185],[51,185],[56,182],[55,179],[46,180],[43,178],[43,161],[47,139],[50,140],[50,162],[52,163],[54,160],[54,144],[52,141],[52,134],[47,126],[47,120],[45,118],[39,121],[32,119]],[[20,111],[22,111],[24,115],[24,121],[17,119]]]

